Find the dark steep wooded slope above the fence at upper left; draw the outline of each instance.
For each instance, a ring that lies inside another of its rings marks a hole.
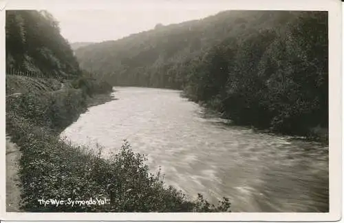
[[[78,76],[78,61],[58,22],[43,10],[6,10],[6,72]]]

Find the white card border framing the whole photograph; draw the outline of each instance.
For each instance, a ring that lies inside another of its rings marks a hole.
[[[137,8],[193,10],[201,8],[219,8],[219,10],[300,10],[328,11],[329,27],[329,178],[330,178],[330,213],[10,213],[6,212],[6,149],[2,149],[0,220],[6,221],[147,221],[147,222],[317,222],[337,221],[342,215],[342,9],[339,0],[3,0],[0,1],[0,91],[1,91],[1,145],[6,148],[6,109],[5,96],[6,56],[5,56],[5,10],[95,10],[113,8],[129,10]],[[181,5],[182,4],[182,5]],[[134,16],[134,15],[132,15]]]

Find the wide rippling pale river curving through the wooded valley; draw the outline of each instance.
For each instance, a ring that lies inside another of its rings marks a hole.
[[[125,138],[166,184],[211,202],[226,196],[233,212],[328,212],[328,147],[228,125],[175,90],[113,94],[118,100],[90,107],[61,135],[98,142],[105,157]]]

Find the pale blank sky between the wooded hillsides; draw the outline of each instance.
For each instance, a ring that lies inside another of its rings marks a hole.
[[[48,10],[59,22],[61,34],[69,41],[101,42],[151,30],[156,24],[169,25],[202,19],[221,10],[202,9],[125,9],[125,10]]]

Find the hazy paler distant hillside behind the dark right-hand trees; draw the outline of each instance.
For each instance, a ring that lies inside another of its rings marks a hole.
[[[105,75],[117,85],[180,88],[184,77],[174,74],[176,66],[203,55],[224,39],[242,40],[259,30],[283,29],[296,17],[297,12],[221,12],[83,47],[76,50],[76,56],[81,67]]]

